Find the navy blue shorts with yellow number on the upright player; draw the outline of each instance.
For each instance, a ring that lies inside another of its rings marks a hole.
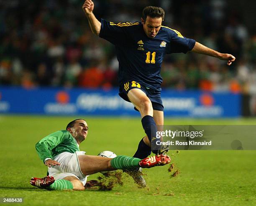
[[[134,88],[141,89],[141,91],[143,91],[147,95],[152,103],[152,107],[154,110],[164,111],[164,106],[161,99],[161,91],[150,89],[137,83],[136,81],[126,81],[124,84],[121,84],[121,86],[119,87],[119,96],[122,97],[125,101],[131,102],[128,99],[127,94],[131,89]],[[136,107],[134,107],[134,109],[138,111]]]

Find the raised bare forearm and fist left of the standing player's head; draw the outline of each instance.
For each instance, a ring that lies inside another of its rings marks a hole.
[[[101,23],[97,20],[95,15],[93,14],[93,9],[94,9],[94,3],[92,0],[86,0],[82,6],[84,13],[88,19],[88,22],[90,24],[90,28],[92,30],[92,33],[96,34],[99,36],[100,34],[100,26]]]

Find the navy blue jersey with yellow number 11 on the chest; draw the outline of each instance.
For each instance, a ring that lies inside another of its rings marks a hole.
[[[141,22],[115,24],[101,19],[100,37],[116,47],[120,85],[132,80],[157,91],[163,81],[160,71],[164,55],[187,53],[195,45],[195,40],[165,26],[154,38],[148,38]]]

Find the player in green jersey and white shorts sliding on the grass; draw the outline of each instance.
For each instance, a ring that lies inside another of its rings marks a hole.
[[[48,166],[49,176],[31,178],[31,185],[48,190],[84,190],[87,176],[101,171],[131,168],[151,168],[170,162],[167,155],[155,155],[143,160],[118,155],[105,158],[84,155],[79,145],[88,134],[85,120],[69,122],[66,130],[54,132],[36,143],[36,151]]]

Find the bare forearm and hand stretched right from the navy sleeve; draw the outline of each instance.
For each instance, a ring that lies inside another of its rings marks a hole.
[[[193,52],[196,53],[202,53],[202,54],[206,54],[209,56],[213,56],[216,58],[219,58],[220,60],[226,60],[228,61],[228,65],[231,65],[233,61],[236,60],[236,57],[234,57],[233,55],[229,54],[229,53],[220,53],[218,51],[215,51],[211,48],[208,48],[198,42],[195,43],[194,48],[192,48]]]

